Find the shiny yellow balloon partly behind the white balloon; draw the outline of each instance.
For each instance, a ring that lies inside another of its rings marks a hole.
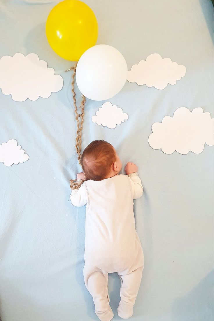
[[[87,49],[96,44],[97,19],[87,4],[79,0],[65,0],[49,13],[46,36],[57,55],[78,61]]]

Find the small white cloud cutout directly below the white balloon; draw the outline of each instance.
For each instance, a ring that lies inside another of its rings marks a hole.
[[[96,111],[96,116],[91,117],[93,123],[97,125],[107,126],[108,128],[115,128],[116,125],[120,125],[126,119],[128,115],[123,113],[122,108],[118,108],[116,105],[112,105],[109,101],[102,104],[102,107]]]

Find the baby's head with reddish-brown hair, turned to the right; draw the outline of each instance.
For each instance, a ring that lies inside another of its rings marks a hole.
[[[81,157],[86,179],[102,180],[117,175],[122,163],[115,148],[104,140],[91,142]]]

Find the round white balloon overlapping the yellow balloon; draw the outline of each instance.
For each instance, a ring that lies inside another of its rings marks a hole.
[[[121,91],[127,73],[124,56],[116,48],[96,45],[80,57],[76,67],[76,83],[86,98],[106,100]]]

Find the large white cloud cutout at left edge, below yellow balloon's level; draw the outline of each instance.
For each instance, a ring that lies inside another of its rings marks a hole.
[[[47,62],[39,60],[37,54],[16,53],[0,59],[0,88],[15,101],[48,98],[62,87],[63,78],[55,75],[53,68],[47,68]]]

